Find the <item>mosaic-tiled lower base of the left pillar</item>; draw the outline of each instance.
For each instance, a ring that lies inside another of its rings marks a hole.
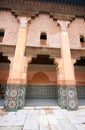
[[[4,107],[6,111],[17,111],[24,107],[25,86],[18,84],[7,85]]]

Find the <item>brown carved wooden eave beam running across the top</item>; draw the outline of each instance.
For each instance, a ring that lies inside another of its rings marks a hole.
[[[15,10],[16,15],[27,15],[29,12],[69,14],[78,17],[85,17],[85,8],[52,2],[26,1],[26,0],[1,0],[1,9]]]

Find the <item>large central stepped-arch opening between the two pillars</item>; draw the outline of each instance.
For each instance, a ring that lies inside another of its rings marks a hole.
[[[57,74],[53,61],[49,55],[37,55],[28,66],[26,99],[35,101],[34,105],[57,105]]]

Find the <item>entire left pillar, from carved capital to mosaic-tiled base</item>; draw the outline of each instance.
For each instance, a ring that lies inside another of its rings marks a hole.
[[[18,17],[20,26],[17,37],[15,55],[10,69],[6,90],[5,108],[7,111],[15,111],[24,106],[25,84],[23,83],[23,68],[25,60],[26,34],[28,18]]]

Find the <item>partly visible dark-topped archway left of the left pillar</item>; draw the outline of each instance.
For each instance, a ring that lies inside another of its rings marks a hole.
[[[7,56],[3,56],[0,52],[0,106],[4,105],[5,91],[7,86],[7,79],[9,76],[9,64]]]

